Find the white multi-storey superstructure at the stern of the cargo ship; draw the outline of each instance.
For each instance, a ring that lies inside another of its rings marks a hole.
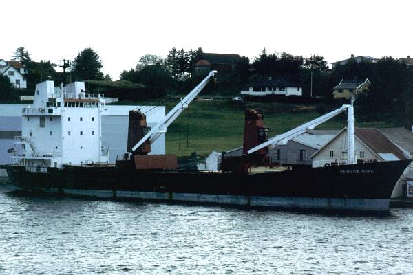
[[[108,163],[109,148],[102,144],[103,94],[86,94],[85,83],[54,87],[36,85],[32,106],[22,110],[21,144],[12,159],[29,170],[61,168],[63,164]]]

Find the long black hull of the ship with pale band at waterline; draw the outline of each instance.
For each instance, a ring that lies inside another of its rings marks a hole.
[[[249,173],[65,166],[5,166],[17,188],[61,195],[191,201],[274,208],[388,211],[407,161]]]

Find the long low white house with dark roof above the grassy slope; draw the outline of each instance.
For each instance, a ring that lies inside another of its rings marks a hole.
[[[244,96],[302,96],[302,87],[286,80],[260,80],[248,85],[242,89],[241,94]]]

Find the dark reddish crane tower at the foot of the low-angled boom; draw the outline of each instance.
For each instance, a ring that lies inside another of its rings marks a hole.
[[[268,137],[268,129],[264,126],[264,116],[255,110],[245,110],[244,145],[242,153],[246,155],[248,150],[262,144]],[[259,155],[268,154],[268,147],[256,152]]]

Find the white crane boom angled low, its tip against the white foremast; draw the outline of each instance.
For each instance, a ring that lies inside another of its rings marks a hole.
[[[319,118],[316,118],[315,120],[311,120],[310,122],[302,124],[301,126],[298,126],[286,133],[283,133],[281,135],[276,135],[275,137],[271,137],[271,139],[267,140],[266,142],[263,142],[262,144],[257,145],[254,148],[251,148],[250,150],[248,150],[248,155],[266,146],[275,147],[279,144],[286,144],[288,140],[291,140],[294,137],[297,137],[301,135],[302,133],[305,133],[307,130],[314,129],[319,124],[324,123],[327,120],[330,120],[330,118],[334,118],[336,115],[338,115],[339,113],[343,111],[346,111],[346,109],[350,107],[352,107],[352,105],[343,105],[339,109],[330,111],[330,113],[326,113],[325,115],[321,115]],[[354,121],[354,118],[353,118],[353,121]],[[354,127],[354,124],[353,124],[353,127]]]

